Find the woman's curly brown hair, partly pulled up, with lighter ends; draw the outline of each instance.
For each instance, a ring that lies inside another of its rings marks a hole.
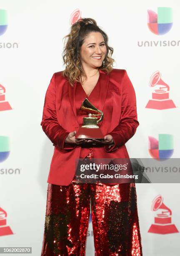
[[[92,18],[83,18],[78,20],[71,26],[70,33],[65,36],[65,46],[62,53],[62,58],[65,65],[65,70],[62,75],[68,79],[71,86],[73,83],[82,82],[80,77],[87,79],[87,76],[82,68],[80,61],[80,47],[82,46],[85,37],[91,32],[100,32],[105,40],[107,53],[105,55],[104,63],[98,69],[104,70],[109,74],[113,69],[114,59],[111,58],[113,48],[108,46],[107,34],[97,26],[97,23]]]

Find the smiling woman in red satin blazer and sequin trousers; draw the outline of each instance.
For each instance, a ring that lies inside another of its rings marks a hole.
[[[66,39],[66,67],[52,76],[41,123],[55,146],[42,255],[85,255],[90,202],[95,255],[142,255],[135,184],[79,184],[74,179],[75,159],[129,157],[125,143],[139,125],[133,85],[125,70],[112,69],[113,49],[95,20],[78,20]],[[101,143],[75,138],[87,116],[80,111],[86,97],[104,113]]]

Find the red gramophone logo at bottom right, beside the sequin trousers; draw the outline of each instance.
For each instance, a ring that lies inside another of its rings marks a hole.
[[[159,210],[163,209],[163,210]],[[178,229],[176,228],[175,224],[171,223],[171,215],[172,211],[163,204],[163,197],[158,195],[155,197],[151,207],[152,211],[158,211],[155,217],[155,224],[150,226],[148,230],[149,233],[156,233],[156,234],[171,234],[171,233],[179,233]]]

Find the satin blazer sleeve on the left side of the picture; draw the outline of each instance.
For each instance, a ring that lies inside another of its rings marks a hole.
[[[62,149],[73,149],[75,144],[65,143],[65,138],[69,134],[57,121],[56,115],[56,86],[55,86],[55,74],[53,74],[50,84],[47,88],[45,95],[45,102],[42,114],[42,130],[47,137],[52,141],[53,146],[57,146]]]

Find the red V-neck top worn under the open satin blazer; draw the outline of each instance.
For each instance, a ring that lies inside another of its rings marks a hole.
[[[80,127],[83,124],[83,118],[87,117],[89,114],[85,110],[80,110],[83,100],[87,98],[92,103],[92,105],[98,108],[99,97],[100,97],[100,81],[99,80],[100,80],[100,77],[97,80],[97,83],[89,96],[87,96],[87,94],[85,93],[80,82],[77,82],[77,86],[75,90],[75,106],[76,106],[77,122],[79,123]],[[90,152],[92,152],[92,150],[93,150],[92,147],[81,146],[80,158],[84,158]]]

